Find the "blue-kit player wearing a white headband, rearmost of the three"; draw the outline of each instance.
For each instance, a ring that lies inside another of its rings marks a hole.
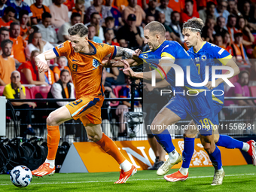
[[[239,73],[239,68],[236,66],[236,63],[233,62],[230,53],[215,44],[210,44],[209,42],[202,40],[201,30],[203,29],[203,26],[203,20],[198,18],[190,19],[183,25],[183,35],[187,47],[190,47],[190,49],[187,50],[187,53],[194,59],[202,81],[206,79],[206,66],[209,67],[209,82],[206,84],[206,87],[215,91],[215,95],[212,94],[212,100],[214,103],[214,121],[218,124],[218,113],[224,105],[224,84],[223,80],[219,78],[216,80],[215,87],[212,87],[212,66],[229,66],[234,70],[233,76]],[[221,75],[222,70],[216,70],[215,74]],[[157,87],[163,87],[166,83],[162,82],[161,84],[162,85],[157,84]],[[198,133],[194,120],[191,120],[189,125],[188,129],[184,132],[184,151],[182,153],[183,163],[181,169],[179,169],[178,172],[166,175],[166,181],[184,181],[188,177],[190,160],[194,154],[194,139]],[[218,129],[214,130],[214,138],[215,143],[218,146],[225,148],[239,148],[243,151],[247,151],[255,166],[256,155],[255,142],[253,140],[240,142],[230,136],[219,135]],[[222,170],[220,172],[217,171],[213,183],[220,184],[221,176],[219,175],[224,175],[224,172]]]

